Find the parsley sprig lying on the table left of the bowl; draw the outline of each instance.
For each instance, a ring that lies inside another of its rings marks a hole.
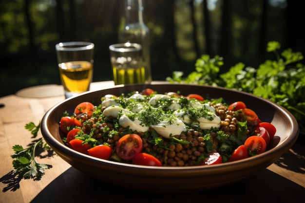
[[[38,130],[40,129],[40,122],[36,126],[33,122],[25,125],[25,129],[28,129],[36,138]],[[40,180],[45,173],[45,169],[51,166],[46,164],[37,163],[35,157],[38,148],[42,151],[50,149],[50,147],[44,142],[43,138],[35,140],[28,148],[23,148],[21,145],[13,146],[15,154],[11,157],[14,159],[12,164],[16,170],[17,178],[21,179],[34,179]]]

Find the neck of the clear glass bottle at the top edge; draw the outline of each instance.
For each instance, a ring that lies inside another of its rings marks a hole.
[[[143,24],[143,2],[142,0],[126,0],[126,24]]]

